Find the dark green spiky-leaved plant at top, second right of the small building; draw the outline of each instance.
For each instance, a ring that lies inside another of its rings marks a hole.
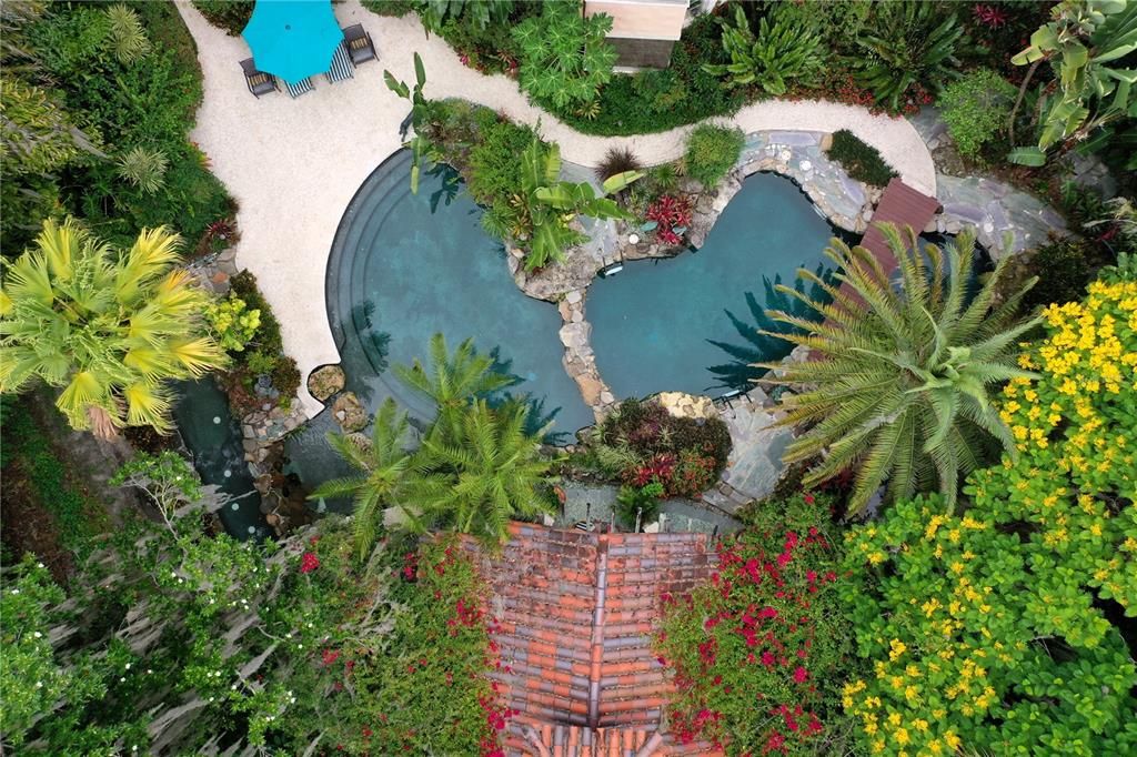
[[[873,34],[857,39],[863,60],[857,81],[894,113],[915,113],[958,76],[955,49],[963,27],[955,7],[899,0],[878,3]]]

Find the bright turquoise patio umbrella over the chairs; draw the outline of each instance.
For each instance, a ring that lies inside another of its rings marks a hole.
[[[257,0],[241,36],[257,68],[289,84],[331,68],[343,41],[331,0]]]

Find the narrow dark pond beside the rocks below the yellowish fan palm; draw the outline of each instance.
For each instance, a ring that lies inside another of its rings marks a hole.
[[[230,415],[229,400],[213,378],[179,382],[174,418],[182,441],[193,454],[201,481],[234,498],[217,510],[225,530],[236,539],[267,536],[260,494],[244,460],[240,424]]]

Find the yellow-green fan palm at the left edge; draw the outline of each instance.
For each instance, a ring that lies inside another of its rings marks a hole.
[[[102,438],[168,431],[166,383],[225,363],[202,318],[209,293],[174,267],[179,242],[163,226],[116,250],[72,218],[45,221],[0,291],[0,391],[63,388],[56,406],[72,427]]]

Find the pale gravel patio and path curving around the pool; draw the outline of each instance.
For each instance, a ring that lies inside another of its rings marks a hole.
[[[335,228],[367,175],[401,147],[398,127],[409,105],[388,91],[384,68],[412,81],[417,51],[426,68],[428,97],[466,98],[516,120],[540,123],[542,136],[557,142],[566,160],[584,166],[599,163],[613,145],[631,147],[648,165],[673,160],[691,128],[632,138],[580,134],[529,105],[513,80],[463,66],[441,39],[425,36],[417,18],[375,16],[357,0],[337,3],[335,16],[342,26],[364,24],[380,63],[365,64],[354,80],[334,85],[315,77],[316,90],[297,100],[287,93],[258,100],[246,89],[239,66],[251,55],[244,40],[210,26],[184,0],[177,7],[197,41],[205,74],[205,101],[191,139],[240,203],[238,266],[257,276],[305,381],[321,365],[339,361],[324,305]],[[936,193],[931,156],[906,119],[831,102],[772,101],[746,107],[732,120],[746,132],[848,128],[880,150],[910,185]],[[306,388],[300,400],[309,416],[323,409]]]

